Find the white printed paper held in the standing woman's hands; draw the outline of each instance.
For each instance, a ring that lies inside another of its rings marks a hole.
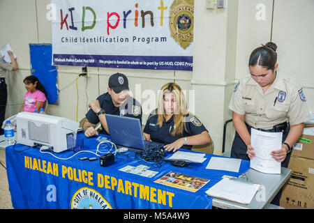
[[[251,128],[251,146],[255,157],[251,159],[250,167],[266,174],[281,174],[281,162],[271,157],[271,151],[281,149],[283,132],[263,132]]]

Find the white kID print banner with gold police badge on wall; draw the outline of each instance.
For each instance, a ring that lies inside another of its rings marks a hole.
[[[52,64],[193,70],[194,0],[52,0]]]

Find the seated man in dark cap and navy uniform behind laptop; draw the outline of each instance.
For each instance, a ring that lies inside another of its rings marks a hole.
[[[142,107],[140,102],[128,95],[128,78],[119,72],[111,75],[108,82],[107,93],[103,93],[96,100],[89,103],[89,112],[83,123],[83,130],[86,137],[98,135],[95,130],[96,124],[101,123],[103,130],[99,133],[110,134],[105,114],[117,116],[128,116],[139,118],[142,124]]]

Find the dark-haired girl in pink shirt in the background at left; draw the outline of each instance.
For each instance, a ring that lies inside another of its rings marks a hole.
[[[24,95],[24,102],[20,109],[20,112],[34,112],[43,108],[46,100],[46,91],[43,84],[41,84],[38,78],[34,75],[25,77],[24,79],[25,88],[27,93]]]

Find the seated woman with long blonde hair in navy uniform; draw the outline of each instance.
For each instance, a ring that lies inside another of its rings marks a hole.
[[[158,108],[151,112],[144,128],[146,140],[163,144],[166,151],[190,149],[211,142],[204,125],[188,113],[186,99],[178,84],[165,84],[160,91]]]

